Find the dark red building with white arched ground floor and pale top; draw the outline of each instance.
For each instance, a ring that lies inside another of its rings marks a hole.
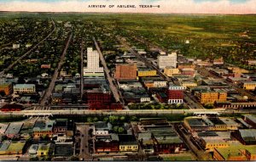
[[[168,103],[183,103],[183,91],[185,87],[171,85],[168,89]]]

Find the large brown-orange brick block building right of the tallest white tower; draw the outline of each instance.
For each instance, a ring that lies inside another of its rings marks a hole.
[[[116,64],[115,78],[120,80],[136,80],[137,64]]]

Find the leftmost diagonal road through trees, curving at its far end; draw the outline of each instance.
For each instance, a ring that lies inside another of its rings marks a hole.
[[[33,46],[29,51],[24,53],[22,56],[20,56],[19,59],[16,59],[15,62],[13,62],[12,64],[9,64],[9,66],[6,69],[4,69],[3,71],[0,72],[0,77],[3,77],[4,73],[6,73],[7,71],[11,70],[15,66],[15,64],[20,62],[21,59],[24,59],[28,54],[32,53],[32,51],[34,49],[36,49],[38,47],[38,45],[40,45],[42,42],[44,42],[47,38],[49,38],[49,36],[51,36],[55,32],[55,30],[56,30],[55,21],[52,20],[52,23],[54,25],[54,29],[49,33],[49,35],[44,37],[44,39],[42,41],[38,42],[38,44]]]

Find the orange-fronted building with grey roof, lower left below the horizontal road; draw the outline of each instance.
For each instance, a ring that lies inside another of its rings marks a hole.
[[[55,120],[38,120],[33,128],[33,137],[52,137]]]

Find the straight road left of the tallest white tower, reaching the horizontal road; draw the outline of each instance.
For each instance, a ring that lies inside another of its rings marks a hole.
[[[49,97],[50,97],[50,95],[51,95],[51,93],[52,93],[52,91],[53,91],[53,89],[55,87],[55,81],[57,80],[57,77],[58,77],[59,72],[61,70],[61,65],[64,62],[64,59],[65,59],[65,56],[66,56],[66,53],[67,53],[67,47],[69,46],[69,43],[71,41],[72,36],[73,36],[73,33],[71,33],[69,35],[69,37],[68,37],[68,40],[67,40],[66,46],[65,46],[65,48],[63,50],[63,53],[61,55],[61,59],[60,59],[60,62],[58,64],[58,67],[55,69],[55,73],[54,73],[54,75],[51,78],[51,81],[49,83],[48,89],[46,90],[46,92],[44,92],[44,97],[41,99],[40,105],[44,106],[49,101]]]

